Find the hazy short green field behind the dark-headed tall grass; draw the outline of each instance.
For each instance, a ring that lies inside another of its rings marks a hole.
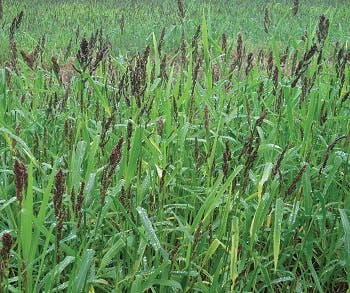
[[[182,31],[191,39],[203,14],[210,23],[211,38],[218,39],[225,32],[230,39],[236,39],[239,32],[244,35],[250,47],[259,49],[269,44],[275,36],[281,45],[291,45],[311,31],[321,13],[331,16],[331,41],[350,39],[350,20],[347,1],[300,1],[296,17],[292,17],[293,1],[187,1],[186,15],[182,26],[176,12],[176,1],[6,1],[4,5],[1,46],[6,51],[7,34],[12,19],[21,10],[25,11],[21,30],[16,39],[23,46],[35,46],[43,34],[47,36],[46,52],[57,54],[64,51],[69,40],[103,28],[112,43],[114,54],[135,53],[151,40],[151,33],[160,35],[167,28],[165,46],[178,46]],[[264,9],[270,8],[272,26],[264,32]],[[125,19],[124,34],[120,21]],[[73,46],[76,44],[73,44]]]

